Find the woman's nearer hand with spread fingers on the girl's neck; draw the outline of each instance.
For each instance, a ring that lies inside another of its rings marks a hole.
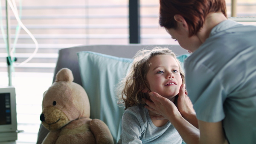
[[[155,116],[153,119],[168,119],[172,123],[172,118],[174,118],[175,115],[181,116],[175,104],[169,99],[162,97],[156,92],[150,92],[149,96],[152,102],[143,99],[143,101],[145,101],[147,104],[145,108],[158,115],[161,115]]]

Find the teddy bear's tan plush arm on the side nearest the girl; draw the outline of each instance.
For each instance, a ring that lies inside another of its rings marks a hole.
[[[113,137],[108,126],[99,119],[90,121],[90,130],[96,138],[97,144],[113,144]]]

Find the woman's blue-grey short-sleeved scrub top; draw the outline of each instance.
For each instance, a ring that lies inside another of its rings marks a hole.
[[[231,144],[256,144],[256,26],[219,23],[184,67],[197,118],[223,120]]]

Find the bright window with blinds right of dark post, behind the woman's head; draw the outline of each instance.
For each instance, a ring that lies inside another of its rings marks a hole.
[[[231,18],[231,1],[237,2],[237,18]],[[256,25],[255,0],[226,0],[226,5],[227,15],[230,19],[239,22],[246,21],[243,24]],[[177,41],[170,39],[169,34],[158,24],[159,0],[140,0],[140,6],[141,43],[178,44]]]

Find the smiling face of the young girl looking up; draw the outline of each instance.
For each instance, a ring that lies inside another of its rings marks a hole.
[[[177,61],[171,55],[157,55],[149,61],[151,66],[146,75],[149,90],[172,100],[182,84]]]

